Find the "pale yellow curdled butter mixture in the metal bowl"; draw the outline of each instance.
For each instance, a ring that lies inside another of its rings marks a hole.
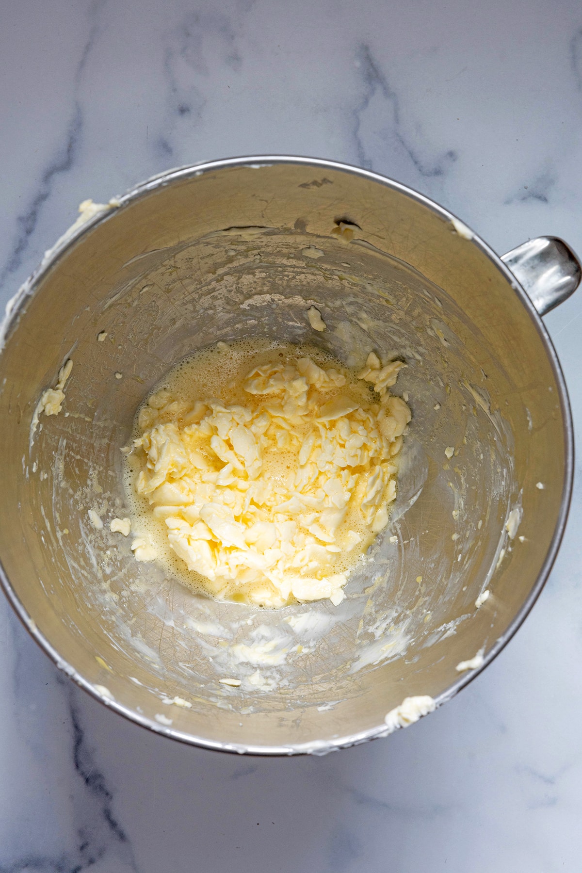
[[[127,456],[137,560],[217,599],[329,598],[387,525],[410,421],[401,361],[353,373],[315,347],[197,352],[141,405]]]

